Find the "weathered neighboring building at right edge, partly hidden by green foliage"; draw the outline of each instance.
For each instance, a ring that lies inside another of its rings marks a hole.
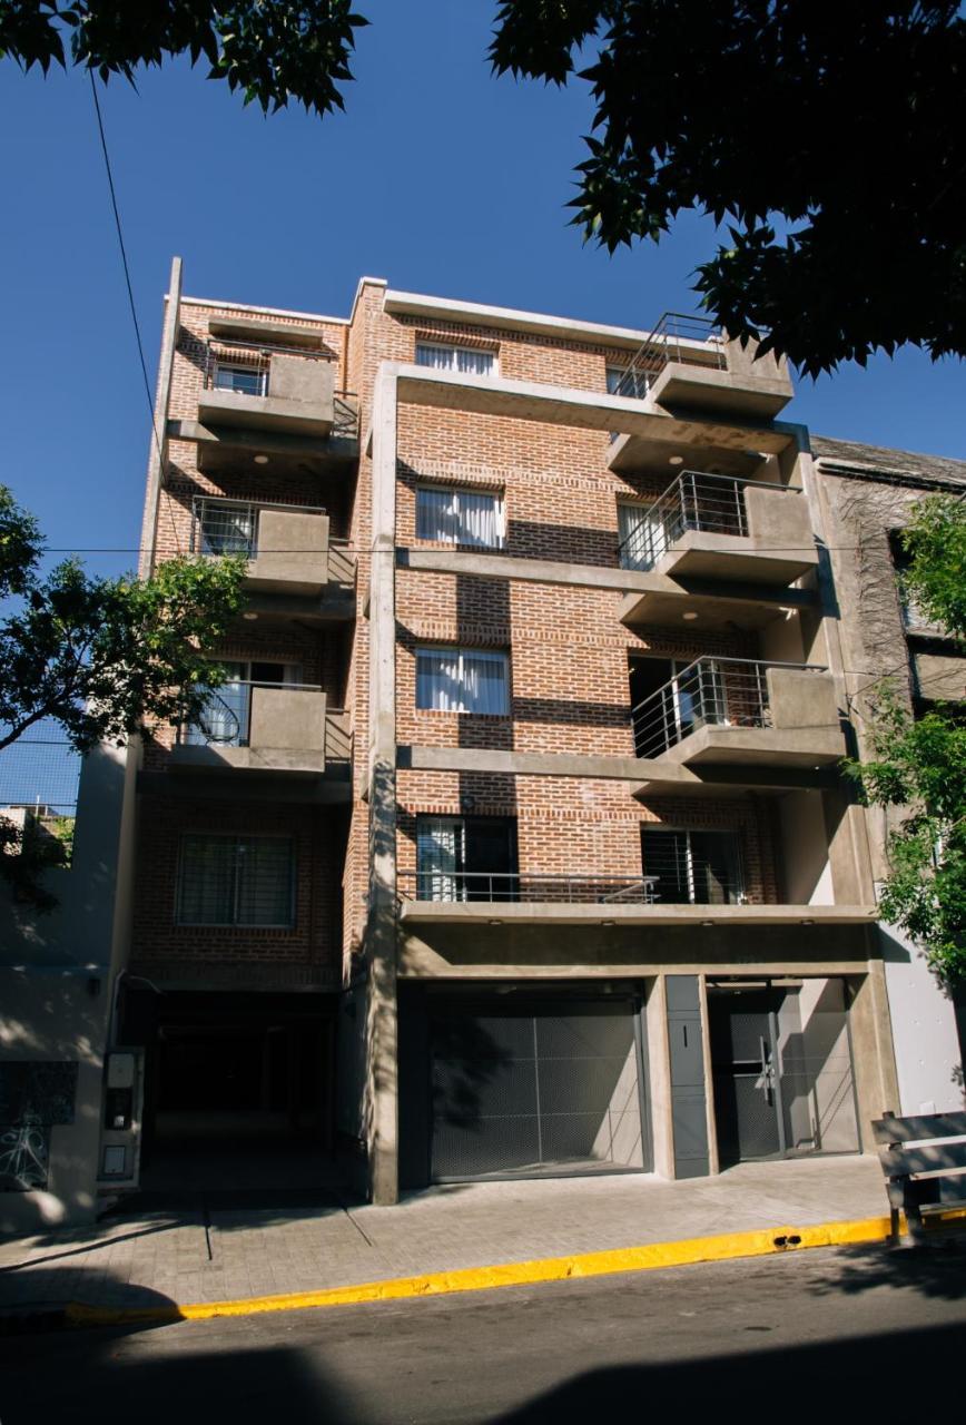
[[[861,755],[883,684],[913,712],[966,700],[962,644],[903,600],[906,564],[899,539],[916,503],[929,494],[966,497],[966,462],[851,440],[812,437],[822,522],[838,596],[838,637],[849,717]],[[869,808],[876,882],[888,874],[886,838],[900,812]],[[900,1113],[963,1107],[963,1040],[949,990],[922,952],[895,926],[879,926],[892,1019]],[[960,1019],[963,1005],[959,1005]]]

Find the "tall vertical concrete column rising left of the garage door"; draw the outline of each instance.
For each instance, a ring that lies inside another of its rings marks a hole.
[[[369,958],[368,1153],[373,1203],[399,1197],[396,999],[396,408],[395,369],[372,406],[372,574],[369,584]]]

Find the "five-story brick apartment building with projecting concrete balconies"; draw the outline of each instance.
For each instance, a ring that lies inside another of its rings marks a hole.
[[[175,264],[144,569],[241,550],[248,606],[202,724],[128,758],[98,1191],[185,1141],[239,1184],[348,1146],[383,1203],[871,1150],[899,1089],[789,399],[695,319],[369,278],[328,318]]]

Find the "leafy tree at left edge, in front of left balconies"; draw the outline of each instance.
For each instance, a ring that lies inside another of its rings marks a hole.
[[[0,486],[0,760],[31,727],[60,725],[78,752],[145,722],[197,720],[227,671],[208,657],[242,601],[242,559],[171,559],[150,579],[95,579],[77,560],[41,574],[36,519]],[[0,762],[1,765],[1,762]],[[57,828],[56,828],[57,831]],[[40,875],[63,834],[0,817],[0,879],[50,909]]]

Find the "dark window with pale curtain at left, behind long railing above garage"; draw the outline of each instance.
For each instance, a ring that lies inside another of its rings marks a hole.
[[[504,817],[417,817],[417,901],[513,901],[516,824]]]

